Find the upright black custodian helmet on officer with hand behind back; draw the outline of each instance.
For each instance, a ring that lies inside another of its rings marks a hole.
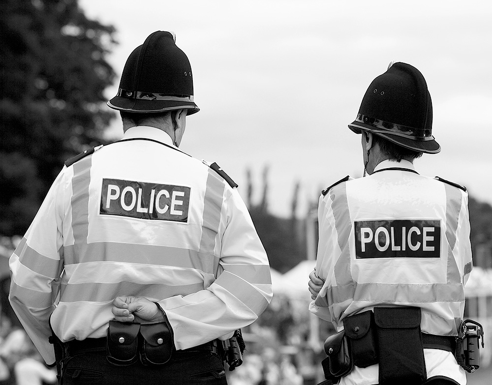
[[[121,111],[153,113],[199,108],[193,101],[193,79],[186,54],[171,32],[151,33],[135,48],[123,68],[118,94],[108,106]]]

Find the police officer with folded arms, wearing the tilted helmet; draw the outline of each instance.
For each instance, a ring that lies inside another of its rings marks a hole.
[[[309,282],[309,310],[351,344],[353,368],[334,381],[464,385],[453,345],[472,268],[468,196],[413,165],[422,153],[440,151],[422,74],[390,64],[349,128],[361,134],[369,176],[322,192]],[[336,349],[329,342],[327,353]]]

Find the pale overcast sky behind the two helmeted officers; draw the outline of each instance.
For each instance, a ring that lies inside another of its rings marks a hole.
[[[417,67],[433,105],[439,154],[415,161],[427,176],[468,188],[492,204],[492,2],[310,0],[79,0],[112,24],[108,58],[118,76],[155,30],[172,30],[193,70],[200,112],[186,120],[181,148],[217,162],[246,197],[246,169],[260,199],[269,166],[269,207],[298,217],[322,188],[363,171],[353,121],[371,81],[392,60]],[[107,90],[113,97],[118,89]],[[115,119],[109,134],[121,137]],[[164,166],[163,166],[164,167]],[[167,166],[169,167],[169,166]]]

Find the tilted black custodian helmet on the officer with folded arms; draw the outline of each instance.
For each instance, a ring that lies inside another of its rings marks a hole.
[[[399,146],[435,154],[441,150],[432,133],[432,100],[420,71],[397,62],[372,81],[357,119],[348,127],[372,132]]]

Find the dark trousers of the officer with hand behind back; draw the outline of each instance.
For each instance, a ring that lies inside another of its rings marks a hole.
[[[224,364],[212,352],[174,352],[164,365],[115,366],[106,360],[106,352],[93,349],[69,357],[64,368],[63,385],[227,385]]]

